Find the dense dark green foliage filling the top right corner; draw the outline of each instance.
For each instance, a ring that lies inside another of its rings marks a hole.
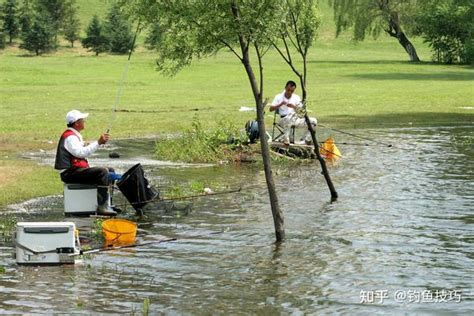
[[[474,5],[469,0],[426,1],[417,15],[418,32],[439,63],[474,63]]]

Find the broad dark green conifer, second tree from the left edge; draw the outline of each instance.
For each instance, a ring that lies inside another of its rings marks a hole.
[[[54,34],[49,16],[37,15],[29,31],[23,34],[20,48],[35,52],[36,56],[51,51],[55,48]]]

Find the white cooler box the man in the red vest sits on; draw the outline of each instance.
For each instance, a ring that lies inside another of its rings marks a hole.
[[[97,211],[97,186],[90,184],[64,184],[64,214],[91,215]]]

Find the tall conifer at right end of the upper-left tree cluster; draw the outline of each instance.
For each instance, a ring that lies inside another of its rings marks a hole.
[[[104,25],[109,40],[109,49],[113,53],[126,54],[132,49],[133,34],[130,22],[120,12],[118,5],[112,5]]]

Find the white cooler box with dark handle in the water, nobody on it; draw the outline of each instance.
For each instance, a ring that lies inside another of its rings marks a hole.
[[[73,264],[79,254],[76,225],[71,222],[19,222],[14,234],[18,264]]]

